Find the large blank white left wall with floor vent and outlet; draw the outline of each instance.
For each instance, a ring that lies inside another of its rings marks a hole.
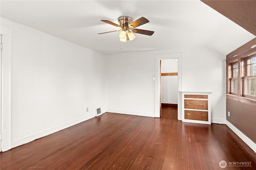
[[[106,112],[106,56],[1,18],[12,28],[12,147]],[[86,111],[89,107],[89,111]]]

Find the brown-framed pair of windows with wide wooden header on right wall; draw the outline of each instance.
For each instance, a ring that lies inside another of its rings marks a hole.
[[[256,104],[256,38],[229,53],[225,61],[227,97]]]

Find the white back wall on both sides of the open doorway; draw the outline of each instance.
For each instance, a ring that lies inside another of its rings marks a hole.
[[[182,91],[212,91],[212,122],[226,119],[225,55],[208,47],[107,56],[107,111],[154,117],[155,55],[182,52]]]

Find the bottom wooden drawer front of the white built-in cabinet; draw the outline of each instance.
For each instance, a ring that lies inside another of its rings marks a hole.
[[[185,119],[208,121],[208,111],[185,110]]]

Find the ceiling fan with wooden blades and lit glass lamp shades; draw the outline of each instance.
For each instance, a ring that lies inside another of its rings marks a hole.
[[[119,38],[120,41],[126,41],[126,40],[130,40],[132,41],[135,38],[134,33],[139,33],[139,34],[144,34],[144,35],[152,35],[154,33],[154,31],[148,31],[148,30],[144,30],[144,29],[136,29],[136,27],[143,25],[145,23],[148,23],[148,19],[141,17],[136,21],[133,21],[133,19],[129,16],[121,16],[118,18],[118,24],[113,23],[111,21],[108,20],[100,20],[103,22],[106,22],[108,24],[114,25],[116,27],[120,27],[120,30],[116,30],[116,31],[109,31],[109,32],[104,32],[104,33],[112,33],[112,32],[118,32],[121,31],[119,34]],[[104,33],[98,33],[98,34],[104,34]]]

